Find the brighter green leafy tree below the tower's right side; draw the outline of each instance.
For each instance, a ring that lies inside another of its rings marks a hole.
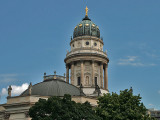
[[[132,88],[98,98],[96,114],[103,120],[154,120],[146,112],[140,95],[133,95]]]

